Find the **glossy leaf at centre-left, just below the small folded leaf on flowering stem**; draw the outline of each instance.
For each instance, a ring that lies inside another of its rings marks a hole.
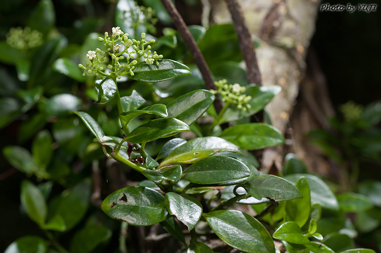
[[[127,140],[132,143],[150,142],[158,138],[169,137],[181,131],[189,130],[188,125],[177,119],[156,119],[135,128],[127,135]]]

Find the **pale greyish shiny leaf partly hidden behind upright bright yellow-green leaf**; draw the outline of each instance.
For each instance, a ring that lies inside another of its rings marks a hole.
[[[319,204],[321,207],[338,210],[339,203],[329,187],[318,177],[309,174],[291,174],[285,178],[296,184],[301,177],[305,177],[311,190],[311,203]]]

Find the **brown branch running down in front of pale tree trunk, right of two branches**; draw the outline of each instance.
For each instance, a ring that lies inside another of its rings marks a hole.
[[[237,0],[225,1],[228,4],[228,8],[234,22],[235,31],[238,35],[242,56],[246,63],[247,80],[249,83],[262,85],[261,73],[259,72],[253,41],[251,40],[249,29],[247,28],[245,19],[242,15],[241,5]]]

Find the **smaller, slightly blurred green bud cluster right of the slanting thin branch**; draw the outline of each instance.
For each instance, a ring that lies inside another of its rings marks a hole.
[[[246,87],[240,86],[238,83],[227,84],[227,82],[226,79],[214,82],[218,90],[211,90],[211,92],[220,94],[223,102],[237,105],[238,109],[243,111],[250,109],[251,105],[248,102],[252,97],[243,94],[246,91]]]

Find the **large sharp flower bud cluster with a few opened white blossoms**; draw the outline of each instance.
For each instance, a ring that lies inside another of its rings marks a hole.
[[[155,41],[146,41],[145,33],[141,34],[140,41],[131,40],[128,38],[128,34],[117,26],[112,28],[111,37],[108,32],[105,32],[104,37],[99,37],[98,40],[103,42],[107,49],[102,51],[97,48],[95,51],[90,50],[87,52],[86,57],[90,63],[87,63],[86,66],[78,64],[80,68],[84,69],[83,75],[95,72],[104,76],[116,76],[119,79],[126,74],[133,76],[134,65],[138,64],[141,57],[147,64],[156,62],[157,65],[159,65],[157,60],[163,58],[162,55],[157,55],[156,52],[151,55],[151,46],[149,44]],[[105,73],[102,72],[103,67],[99,66],[98,63],[106,63],[109,60],[107,55],[111,57],[112,63],[107,65],[109,71]]]

